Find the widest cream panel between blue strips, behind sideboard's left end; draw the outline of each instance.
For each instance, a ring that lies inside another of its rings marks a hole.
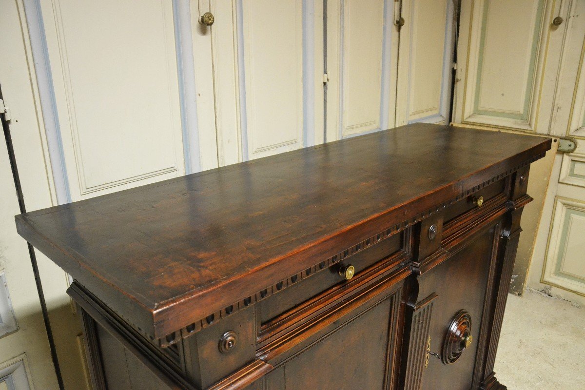
[[[42,10],[71,199],[184,174],[171,2]]]

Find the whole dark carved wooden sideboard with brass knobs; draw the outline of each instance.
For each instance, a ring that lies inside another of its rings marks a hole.
[[[529,165],[549,149],[414,124],[16,224],[75,280],[95,390],[505,389]]]

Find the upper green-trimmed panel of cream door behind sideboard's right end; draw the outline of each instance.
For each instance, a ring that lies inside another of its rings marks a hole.
[[[473,2],[462,122],[535,130],[550,4]]]

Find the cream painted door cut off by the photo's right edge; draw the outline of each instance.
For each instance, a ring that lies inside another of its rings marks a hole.
[[[556,158],[529,283],[585,304],[585,1],[570,1],[563,11],[565,47],[552,127],[576,140],[577,149]]]

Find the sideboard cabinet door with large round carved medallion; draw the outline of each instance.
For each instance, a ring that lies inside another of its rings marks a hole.
[[[487,299],[491,287],[489,281],[497,263],[500,225],[493,226],[473,240],[448,260],[439,264],[419,280],[419,299],[437,294],[432,301],[429,327],[430,350],[440,359],[429,357],[428,367],[422,369],[420,388],[425,390],[450,389],[469,390],[474,379],[476,355],[488,336],[483,328],[486,319]],[[462,311],[464,310],[464,312]],[[470,344],[463,348],[468,333],[464,317],[470,321]],[[450,326],[453,320],[458,326]],[[413,327],[417,324],[414,323]],[[456,330],[455,333],[453,331]],[[453,343],[448,341],[452,340]],[[422,340],[428,343],[428,339]],[[425,345],[426,346],[426,345]],[[412,347],[409,347],[412,348]],[[481,365],[478,363],[477,365]],[[479,373],[478,373],[479,374]],[[476,375],[477,376],[477,375]],[[408,381],[408,378],[407,378]]]

